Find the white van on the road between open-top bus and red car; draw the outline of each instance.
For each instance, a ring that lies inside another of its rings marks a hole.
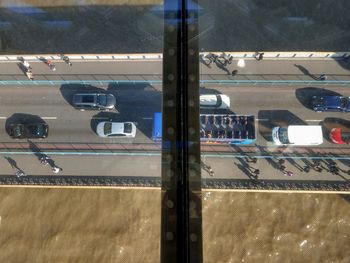
[[[320,125],[289,125],[274,127],[272,139],[277,145],[319,145],[323,143]]]

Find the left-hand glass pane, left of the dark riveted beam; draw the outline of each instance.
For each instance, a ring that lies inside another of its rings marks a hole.
[[[4,240],[20,238],[5,242],[1,262],[31,259],[13,252],[26,242],[37,256],[30,261],[64,262],[64,254],[78,261],[159,261],[160,191],[154,188],[161,147],[152,140],[152,121],[161,111],[162,10],[156,0],[0,1],[0,182],[58,192],[60,186],[114,187],[62,190],[62,196],[2,189],[2,200],[10,202],[1,205]],[[4,217],[8,207],[16,211],[11,220]],[[40,216],[32,220],[33,214]],[[79,240],[96,250],[86,256]],[[47,244],[45,253],[39,243]]]

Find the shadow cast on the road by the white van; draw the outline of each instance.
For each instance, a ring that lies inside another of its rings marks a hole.
[[[272,141],[272,129],[278,126],[306,125],[288,110],[261,110],[258,113],[259,132],[267,141]]]

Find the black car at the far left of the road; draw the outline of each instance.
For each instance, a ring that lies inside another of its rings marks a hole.
[[[14,139],[40,139],[49,134],[46,123],[14,123],[10,125],[10,136]]]

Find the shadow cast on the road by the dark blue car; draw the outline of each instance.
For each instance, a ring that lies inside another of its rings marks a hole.
[[[313,96],[339,96],[340,94],[324,88],[316,88],[316,87],[305,87],[296,89],[295,96],[299,100],[299,102],[310,110],[313,110],[311,99]]]

